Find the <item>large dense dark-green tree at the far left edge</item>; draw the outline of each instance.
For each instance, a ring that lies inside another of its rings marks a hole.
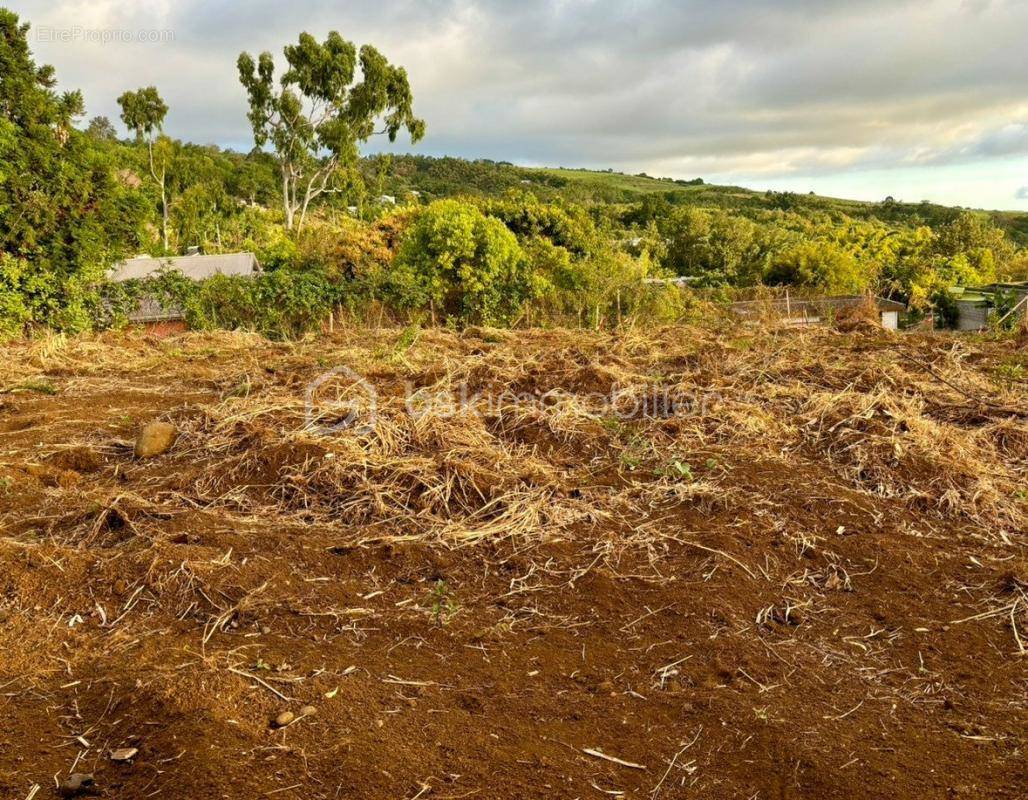
[[[72,122],[77,92],[54,92],[29,26],[0,8],[0,334],[88,325],[91,287],[133,242],[141,209]]]

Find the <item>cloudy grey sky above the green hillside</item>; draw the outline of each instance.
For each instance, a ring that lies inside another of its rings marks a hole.
[[[1026,0],[0,3],[87,115],[153,84],[193,142],[253,146],[241,51],[336,30],[407,69],[400,150],[1028,210]]]

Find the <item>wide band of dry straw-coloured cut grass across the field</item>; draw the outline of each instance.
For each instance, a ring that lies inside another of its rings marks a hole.
[[[370,538],[544,540],[597,520],[628,532],[655,507],[743,502],[739,484],[760,480],[748,465],[762,463],[795,467],[797,482],[827,467],[919,512],[1009,529],[1024,513],[1028,422],[1008,409],[1025,396],[990,377],[983,347],[827,329],[342,331],[277,344],[133,334],[19,346],[3,376],[217,392],[171,414],[182,436],[154,483],[160,502],[79,492],[85,505],[50,515],[98,545],[145,537],[175,498]],[[376,389],[371,430],[311,424],[304,388],[333,364]],[[126,453],[102,438],[62,447]]]

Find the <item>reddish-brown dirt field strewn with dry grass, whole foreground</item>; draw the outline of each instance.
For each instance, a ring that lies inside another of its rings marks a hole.
[[[1026,372],[867,331],[7,346],[0,796],[1028,796]]]

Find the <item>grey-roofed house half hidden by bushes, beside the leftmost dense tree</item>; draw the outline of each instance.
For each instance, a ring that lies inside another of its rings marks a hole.
[[[206,281],[216,275],[252,277],[260,272],[260,264],[253,253],[224,253],[210,256],[192,253],[157,258],[142,255],[116,263],[111,267],[108,279],[115,283],[140,281],[171,270],[181,272],[193,281]],[[184,318],[181,308],[164,305],[157,298],[147,296],[140,298],[139,307],[128,315],[130,322],[146,325],[178,322]]]

